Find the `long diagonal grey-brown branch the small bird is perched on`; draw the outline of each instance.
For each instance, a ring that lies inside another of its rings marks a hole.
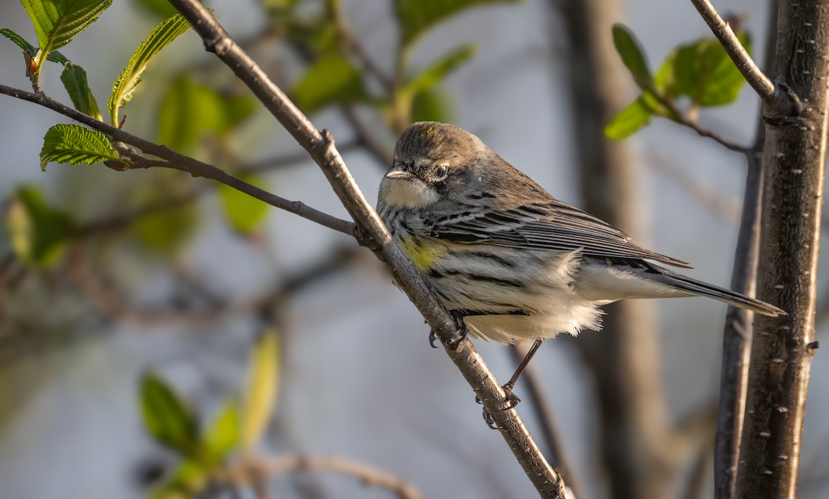
[[[214,52],[235,75],[248,85],[260,102],[293,135],[318,163],[353,220],[376,245],[376,253],[387,261],[410,300],[444,344],[448,356],[492,414],[527,477],[542,497],[564,497],[564,481],[547,463],[515,409],[505,409],[506,397],[492,371],[489,371],[472,342],[457,341],[452,317],[432,293],[423,277],[400,245],[392,239],[376,211],[366,201],[334,147],[330,133],[320,133],[297,109],[250,56],[245,54],[197,0],[170,0],[204,40],[207,51]]]

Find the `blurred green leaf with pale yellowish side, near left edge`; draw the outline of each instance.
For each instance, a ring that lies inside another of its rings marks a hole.
[[[63,254],[76,225],[68,213],[48,206],[41,191],[22,187],[9,202],[6,228],[18,259],[36,267],[49,267]]]

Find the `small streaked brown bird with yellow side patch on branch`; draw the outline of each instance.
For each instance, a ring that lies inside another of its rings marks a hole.
[[[635,245],[622,230],[555,199],[472,133],[418,122],[395,144],[377,213],[462,332],[507,345],[599,331],[602,305],[702,296],[768,316],[781,308],[663,265],[691,265]],[[434,340],[434,332],[430,341]],[[433,345],[434,346],[434,345]]]

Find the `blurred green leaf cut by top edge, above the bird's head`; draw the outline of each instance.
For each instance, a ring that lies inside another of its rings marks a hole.
[[[395,0],[395,17],[400,26],[403,46],[439,22],[468,7],[495,3],[516,3],[519,0]]]

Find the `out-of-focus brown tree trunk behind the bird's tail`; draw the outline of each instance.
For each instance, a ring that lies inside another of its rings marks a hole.
[[[628,144],[604,137],[604,124],[631,95],[613,49],[618,2],[564,2],[583,208],[628,233],[638,220],[638,167]],[[605,308],[604,331],[576,342],[595,375],[602,454],[613,497],[668,497],[671,438],[652,305],[643,300]]]

